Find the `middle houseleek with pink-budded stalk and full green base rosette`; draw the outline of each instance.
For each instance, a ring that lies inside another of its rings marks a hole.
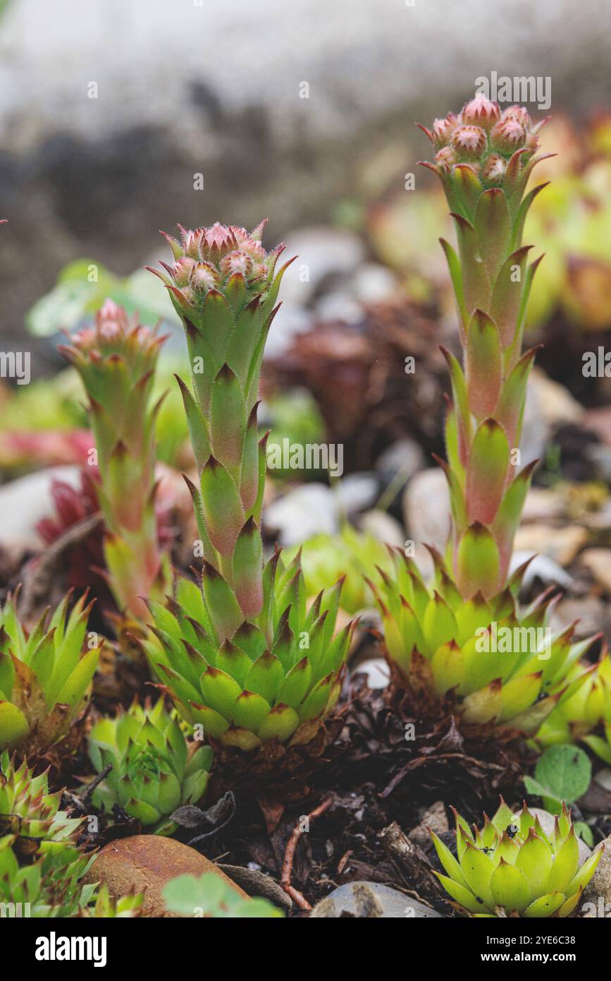
[[[341,584],[305,609],[299,556],[262,565],[265,438],[258,376],[280,282],[283,246],[264,251],[263,225],[214,225],[165,236],[173,266],[158,273],[182,319],[193,392],[180,381],[200,486],[191,482],[203,550],[201,590],[178,582],[151,602],[159,643],[145,642],[180,714],[224,747],[309,743],[340,689],[351,628],[335,639]],[[155,270],[154,270],[155,272]]]

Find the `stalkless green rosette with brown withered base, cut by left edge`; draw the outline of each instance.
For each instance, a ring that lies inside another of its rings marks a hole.
[[[0,749],[49,749],[83,715],[100,647],[82,650],[91,605],[81,596],[69,614],[70,601],[69,593],[29,633],[17,597],[0,612]]]

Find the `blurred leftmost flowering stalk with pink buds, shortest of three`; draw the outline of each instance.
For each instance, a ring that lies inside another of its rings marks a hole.
[[[150,405],[163,341],[107,300],[95,326],[60,348],[89,398],[110,586],[119,609],[140,619],[146,616],[141,597],[163,595],[169,583],[155,516],[155,420],[162,400]]]

